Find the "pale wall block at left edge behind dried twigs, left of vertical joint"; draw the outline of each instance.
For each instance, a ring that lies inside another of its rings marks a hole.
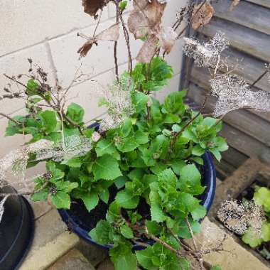
[[[14,39],[17,40],[17,38]],[[53,68],[48,59],[47,49],[44,44],[36,45],[26,50],[21,50],[18,53],[13,53],[11,55],[6,55],[3,58],[0,58],[0,95],[4,94],[3,89],[10,82],[10,80],[4,77],[3,74],[6,73],[6,75],[9,76],[27,74],[30,67],[27,58],[32,58],[33,64],[40,66],[41,68],[43,68],[45,72],[48,72],[49,83],[54,82]],[[21,77],[20,79],[20,81],[22,81],[23,83],[25,83],[27,80],[28,78],[25,76]],[[17,85],[16,83],[12,83],[11,89],[16,92],[18,90],[23,90],[23,87]],[[4,112],[5,114],[11,114],[13,112],[16,112],[23,106],[24,106],[23,99],[0,100],[0,112]]]

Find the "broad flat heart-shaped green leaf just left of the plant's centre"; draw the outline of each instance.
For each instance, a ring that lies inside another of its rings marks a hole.
[[[114,180],[122,175],[117,160],[107,154],[95,160],[92,171],[95,180]]]

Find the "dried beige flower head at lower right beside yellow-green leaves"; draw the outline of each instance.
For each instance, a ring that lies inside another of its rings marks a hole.
[[[219,220],[236,234],[244,234],[252,227],[257,234],[261,234],[262,223],[265,220],[260,205],[254,201],[239,203],[237,200],[223,202],[217,212]]]

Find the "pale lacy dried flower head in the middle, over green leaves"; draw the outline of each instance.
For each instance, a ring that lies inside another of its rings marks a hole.
[[[129,75],[122,76],[112,87],[103,89],[101,104],[107,106],[108,116],[100,123],[101,131],[117,128],[124,119],[134,114],[134,104],[131,100],[133,91],[134,83]]]

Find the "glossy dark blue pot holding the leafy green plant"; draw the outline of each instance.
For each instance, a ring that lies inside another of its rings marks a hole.
[[[215,187],[216,187],[216,174],[215,166],[212,161],[212,156],[210,153],[206,152],[203,156],[203,175],[202,175],[202,185],[206,186],[205,192],[200,196],[201,205],[203,205],[207,211],[210,210],[212,202],[215,197]],[[62,220],[66,223],[68,228],[75,232],[80,238],[84,239],[89,244],[95,244],[104,249],[109,249],[112,247],[112,244],[100,245],[94,242],[91,237],[88,235],[88,232],[92,229],[83,224],[82,220],[79,220],[74,213],[70,210],[58,210]],[[153,244],[153,241],[147,241],[147,244]],[[134,244],[134,250],[144,249],[138,244]]]

